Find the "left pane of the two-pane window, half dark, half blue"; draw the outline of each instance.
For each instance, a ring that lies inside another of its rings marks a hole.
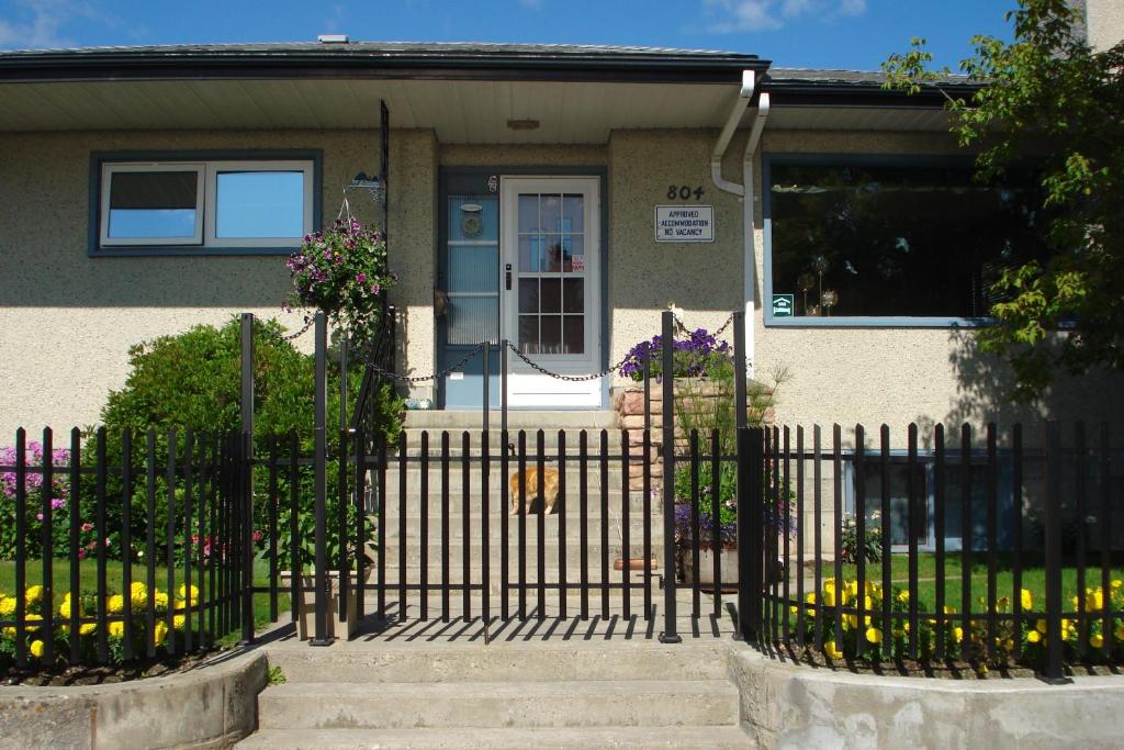
[[[109,184],[109,227],[114,240],[192,238],[199,173],[114,172]]]

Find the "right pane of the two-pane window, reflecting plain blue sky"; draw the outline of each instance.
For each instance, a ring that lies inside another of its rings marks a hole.
[[[303,172],[219,172],[218,237],[300,237],[305,234]]]

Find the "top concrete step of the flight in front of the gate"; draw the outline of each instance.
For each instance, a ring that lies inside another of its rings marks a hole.
[[[455,604],[460,605],[456,600]],[[495,608],[495,605],[493,605]],[[318,683],[549,683],[553,680],[723,679],[725,649],[686,641],[660,643],[452,643],[416,648],[272,648],[270,666],[287,684]],[[377,692],[373,690],[373,692]]]

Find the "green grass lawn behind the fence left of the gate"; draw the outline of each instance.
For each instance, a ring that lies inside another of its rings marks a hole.
[[[52,561],[52,585],[54,587],[55,607],[63,597],[71,590],[70,561],[56,559]],[[119,560],[109,560],[106,563],[106,588],[109,593],[121,593],[121,576],[125,564]],[[199,585],[198,569],[191,569],[191,582]],[[148,569],[142,564],[133,564],[133,580],[146,582]],[[43,582],[43,561],[30,560],[27,563],[27,586],[35,586]],[[184,582],[184,571],[182,568],[175,570],[175,588],[179,590]],[[254,585],[269,586],[269,563],[263,560],[254,562]],[[156,588],[165,590],[167,588],[167,568],[156,568]],[[16,590],[16,563],[11,560],[0,560],[0,593],[11,595]],[[98,562],[92,558],[87,558],[79,563],[79,590],[85,594],[94,594],[98,590]],[[174,591],[173,591],[174,594]],[[278,590],[278,616],[287,620],[289,611],[289,595],[284,588]],[[56,609],[57,611],[57,609]],[[254,594],[254,625],[264,627],[270,623],[270,595],[268,593]],[[236,639],[235,639],[236,640]]]

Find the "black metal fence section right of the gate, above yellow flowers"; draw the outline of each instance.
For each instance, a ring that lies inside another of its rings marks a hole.
[[[856,425],[851,448],[839,425],[753,432],[763,602],[743,627],[836,660],[1024,662],[1054,678],[1067,661],[1118,663],[1120,455],[1107,424],[1070,436],[1048,423],[1032,450],[1017,424],[913,424],[901,454],[885,425],[874,441]]]

